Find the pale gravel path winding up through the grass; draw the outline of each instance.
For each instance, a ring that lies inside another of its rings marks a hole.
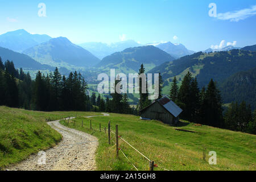
[[[104,113],[102,113],[104,114]],[[108,116],[109,114],[104,114]],[[98,115],[99,116],[99,115]],[[96,117],[96,116],[91,116]],[[73,119],[73,118],[70,118]],[[10,166],[10,171],[93,171],[96,169],[95,153],[98,140],[82,131],[69,129],[58,121],[48,122],[53,129],[63,135],[61,142],[46,152],[46,164],[39,165],[38,154]]]

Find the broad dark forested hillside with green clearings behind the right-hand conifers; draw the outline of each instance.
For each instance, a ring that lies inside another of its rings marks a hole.
[[[171,82],[174,76],[180,81],[189,71],[198,78],[199,86],[205,86],[211,78],[217,82],[224,81],[234,73],[254,67],[256,67],[256,52],[233,49],[212,53],[197,52],[164,63],[149,72],[160,72],[164,80]]]

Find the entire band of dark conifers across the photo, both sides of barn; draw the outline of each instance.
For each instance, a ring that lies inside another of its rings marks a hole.
[[[143,64],[139,75],[144,73]],[[121,80],[117,78],[114,83]],[[71,72],[66,78],[61,76],[58,68],[46,76],[38,71],[35,80],[22,68],[15,69],[13,61],[2,63],[0,57],[0,105],[20,107],[40,111],[106,111],[110,113],[135,114],[151,104],[149,93],[142,93],[142,80],[139,80],[139,102],[137,109],[131,108],[127,94],[112,93],[108,96],[87,94],[88,84],[80,73]],[[163,80],[159,73],[159,98],[162,94]],[[147,91],[147,90],[146,90]],[[188,72],[181,85],[174,77],[169,97],[183,109],[182,119],[225,129],[256,133],[256,111],[251,112],[250,105],[245,102],[232,102],[223,114],[223,103],[216,83],[210,80],[207,88],[199,88],[197,78]]]

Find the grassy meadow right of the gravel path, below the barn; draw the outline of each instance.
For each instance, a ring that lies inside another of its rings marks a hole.
[[[94,130],[89,129],[92,119]],[[156,170],[255,170],[256,164],[256,136],[229,130],[217,129],[209,126],[195,126],[188,123],[182,129],[195,130],[197,133],[176,131],[174,127],[158,121],[141,121],[134,115],[110,114],[110,117],[94,117],[86,119],[81,115],[75,119],[76,126],[69,127],[85,131],[100,140],[97,150],[97,168],[100,170],[134,170],[131,164],[119,153],[119,160],[115,159],[113,143],[108,145],[105,132],[102,131],[111,121],[112,128],[119,125],[119,135],[129,141],[158,164]],[[84,121],[84,127],[81,127]],[[61,122],[67,126],[67,123]],[[114,138],[114,136],[113,136]],[[119,140],[119,146],[139,170],[147,170],[148,162],[126,143]],[[202,160],[203,148],[207,151],[207,162]],[[208,164],[208,152],[217,152],[217,165]]]

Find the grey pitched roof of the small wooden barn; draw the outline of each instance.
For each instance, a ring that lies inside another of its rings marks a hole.
[[[172,102],[168,97],[163,97],[160,98],[159,100],[155,101],[155,102],[159,102],[160,105],[162,105],[164,107],[164,109],[166,109],[168,112],[170,112],[172,115],[174,115],[174,117],[176,118],[178,115],[180,115],[180,113],[183,111],[182,109],[180,109],[179,106],[177,106],[174,102]],[[155,103],[154,102],[154,103]],[[152,103],[152,104],[154,104]],[[151,104],[151,105],[152,105]],[[151,105],[145,107],[144,109],[140,110],[139,112],[147,109],[148,107],[150,107]]]

